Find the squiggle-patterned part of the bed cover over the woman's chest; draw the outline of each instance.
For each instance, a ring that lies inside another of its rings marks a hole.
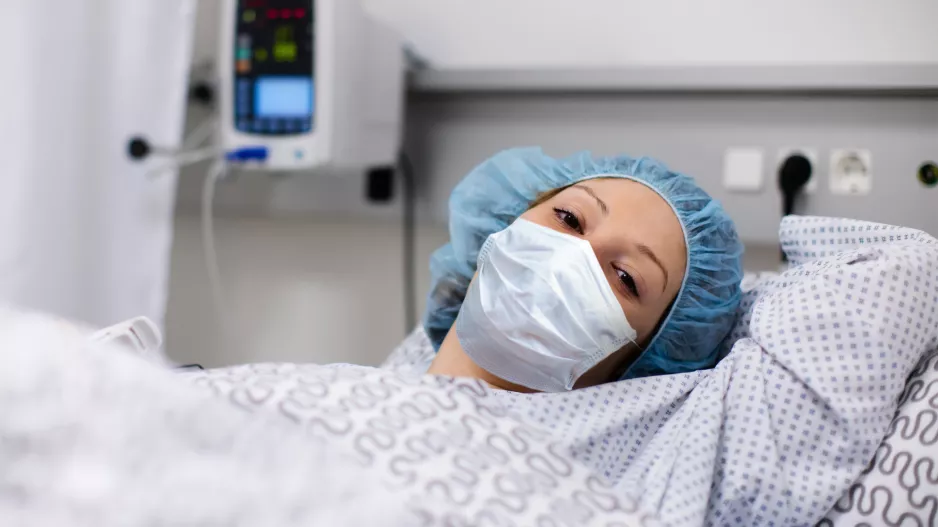
[[[344,448],[424,525],[658,525],[548,431],[509,416],[481,381],[349,365],[183,375],[242,408],[282,416],[312,442]]]

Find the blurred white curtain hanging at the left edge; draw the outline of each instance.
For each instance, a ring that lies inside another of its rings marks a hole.
[[[2,2],[0,301],[162,324],[176,174],[125,151],[180,143],[194,3]]]

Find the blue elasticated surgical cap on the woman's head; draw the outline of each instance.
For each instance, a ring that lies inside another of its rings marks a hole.
[[[450,197],[450,242],[430,259],[424,329],[439,350],[459,313],[489,235],[507,228],[541,194],[579,181],[617,177],[643,183],[671,207],[688,250],[684,282],[648,346],[623,378],[713,367],[742,296],[743,247],[723,207],[694,183],[649,158],[553,159],[539,148],[501,152],[473,169]]]

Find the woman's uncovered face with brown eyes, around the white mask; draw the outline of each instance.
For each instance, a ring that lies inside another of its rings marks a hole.
[[[627,179],[570,186],[522,218],[590,242],[609,286],[644,346],[674,301],[687,266],[681,224],[655,191]],[[584,374],[577,387],[609,381],[639,352],[626,346]]]

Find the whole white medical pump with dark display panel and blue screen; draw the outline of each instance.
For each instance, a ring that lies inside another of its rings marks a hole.
[[[401,40],[357,0],[223,0],[220,140],[260,170],[393,165]]]

